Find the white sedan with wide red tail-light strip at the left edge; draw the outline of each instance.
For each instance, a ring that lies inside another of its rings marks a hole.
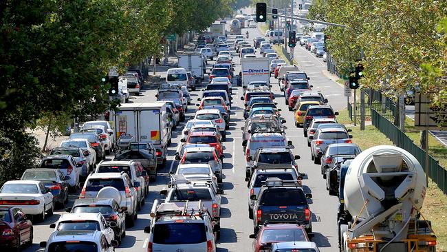
[[[0,205],[20,207],[33,220],[42,222],[45,213],[53,215],[54,200],[50,189],[43,182],[34,180],[10,180],[0,189]]]

